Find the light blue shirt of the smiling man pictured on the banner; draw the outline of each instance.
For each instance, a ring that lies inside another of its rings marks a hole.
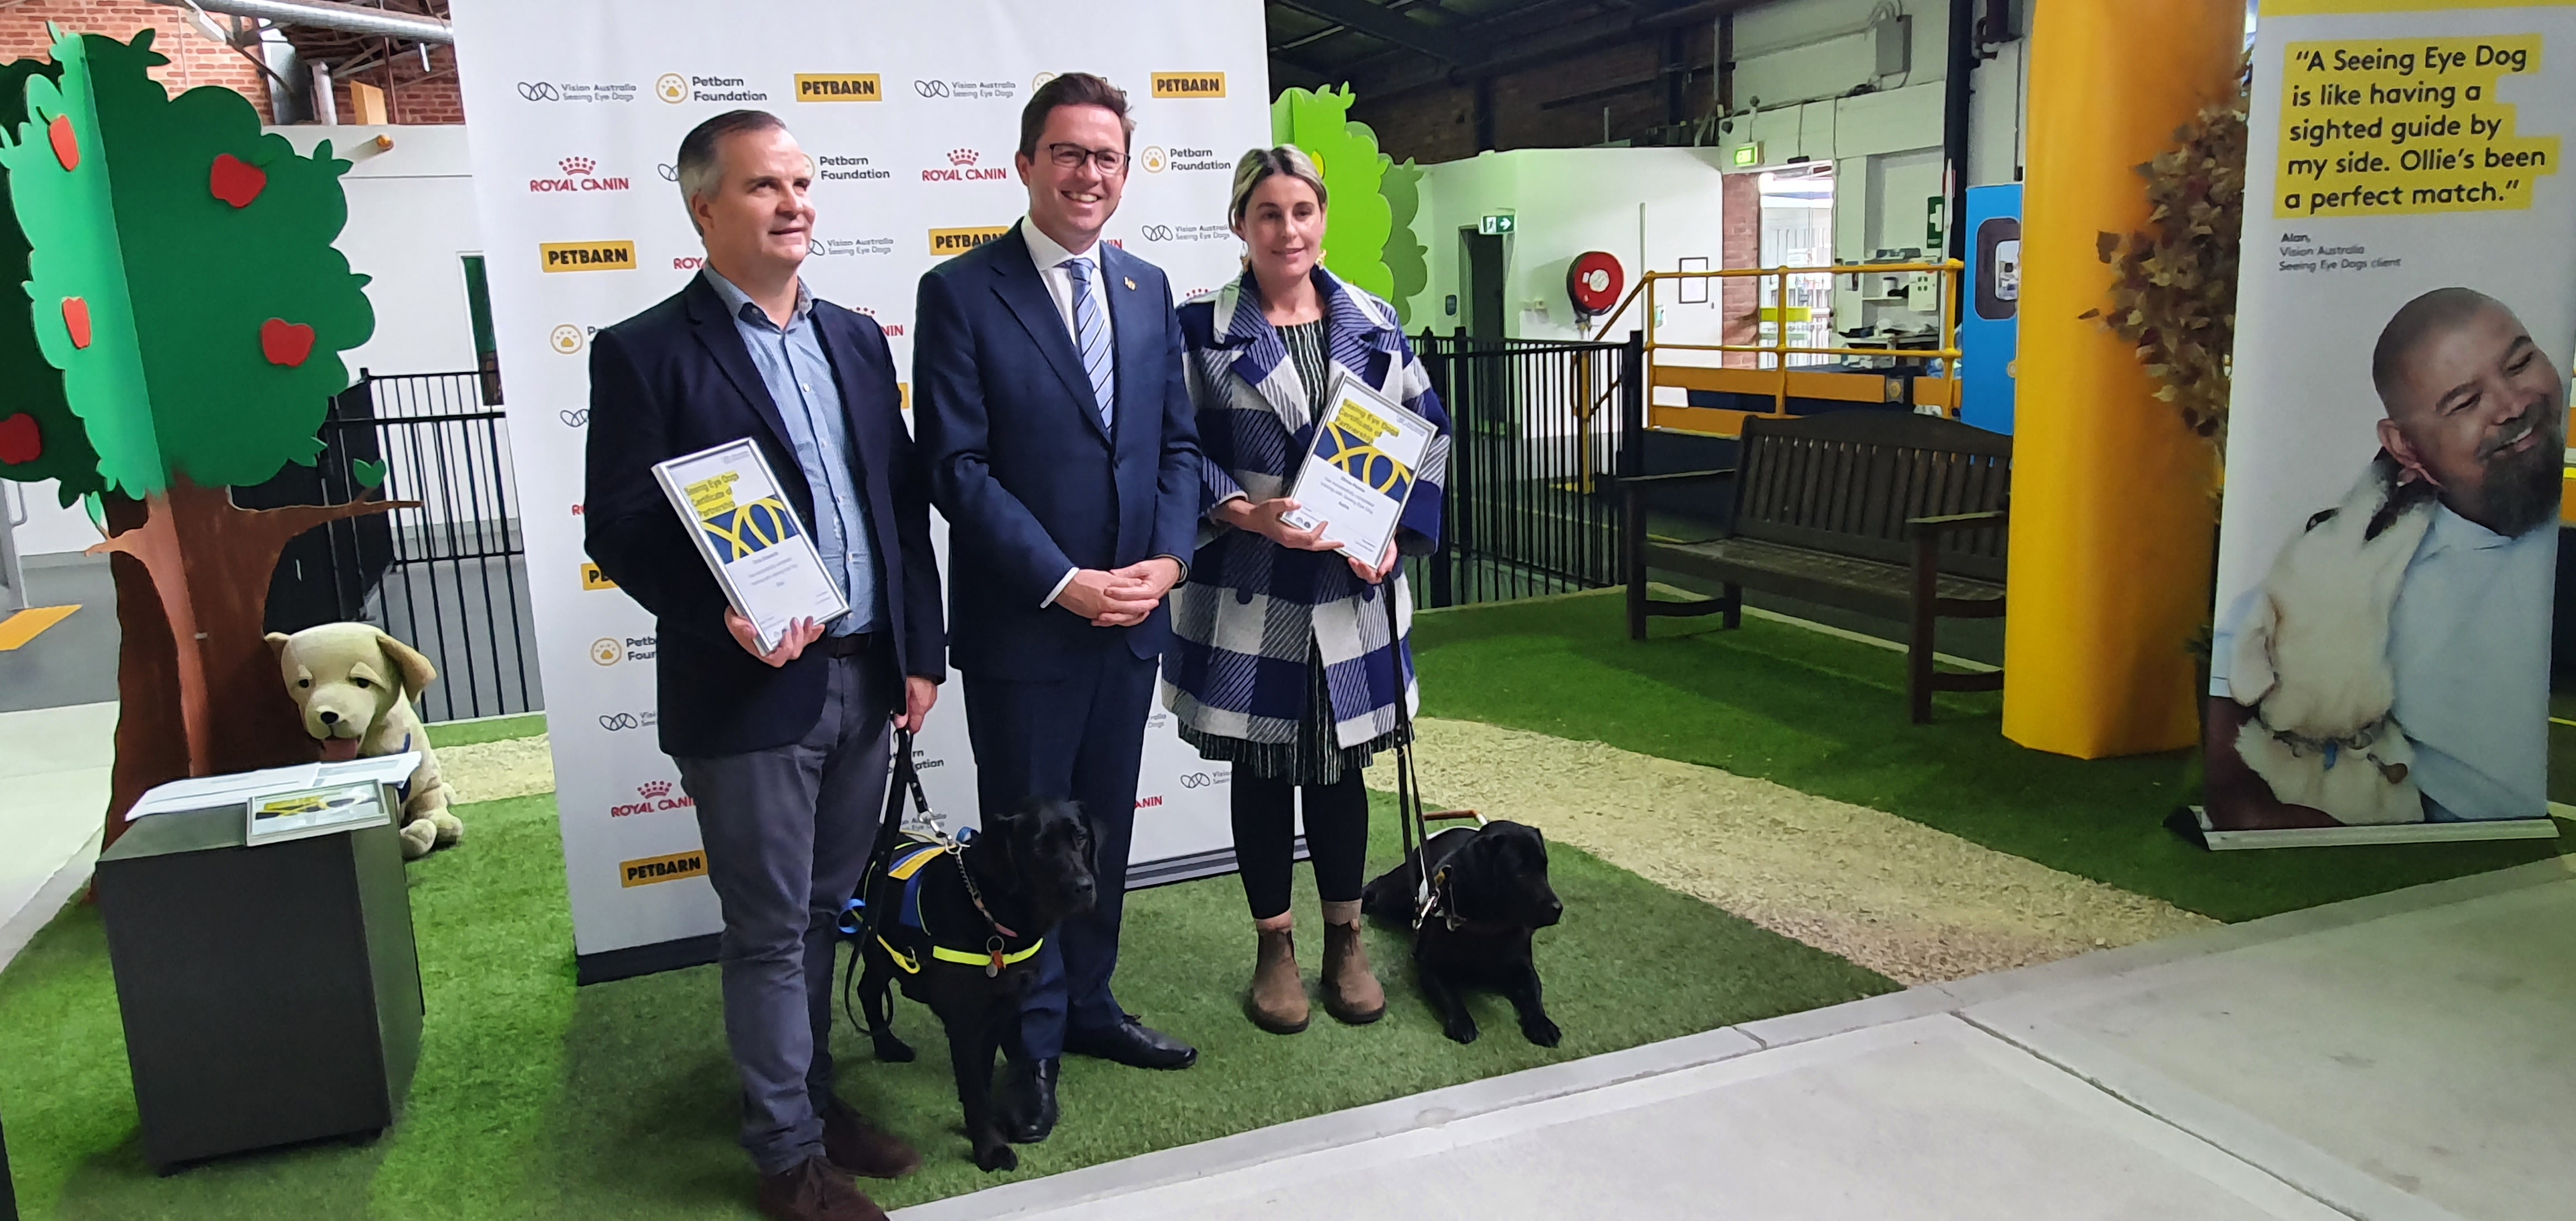
[[[2558,523],[2506,538],[2434,505],[2388,613],[2391,708],[2429,822],[2548,814],[2550,600]],[[2218,623],[2210,696],[2228,696],[2246,590]]]

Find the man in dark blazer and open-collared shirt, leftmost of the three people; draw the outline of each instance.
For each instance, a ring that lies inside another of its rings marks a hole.
[[[920,1154],[832,1092],[835,922],[886,793],[889,726],[945,677],[930,489],[894,355],[799,278],[814,162],[762,111],[708,118],[677,178],[706,270],[590,350],[590,559],[654,613],[662,750],[698,809],[724,907],[724,1036],[742,1144],[775,1218],[884,1218],[848,1175]],[[850,613],[762,649],[708,574],[652,464],[752,438]]]

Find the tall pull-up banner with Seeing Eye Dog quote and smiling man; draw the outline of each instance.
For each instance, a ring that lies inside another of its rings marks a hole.
[[[2210,847],[2555,835],[2576,5],[2262,0]]]

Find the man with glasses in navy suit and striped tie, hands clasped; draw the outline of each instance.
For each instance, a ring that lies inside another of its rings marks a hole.
[[[1028,219],[922,276],[914,407],[948,515],[953,659],[981,809],[1074,799],[1100,904],[1046,940],[1005,1077],[1005,1128],[1056,1126],[1064,1051],[1185,1069],[1190,1046],[1110,997],[1136,765],[1198,533],[1200,456],[1162,270],[1100,240],[1136,121],[1090,72],[1041,85],[1015,165]]]

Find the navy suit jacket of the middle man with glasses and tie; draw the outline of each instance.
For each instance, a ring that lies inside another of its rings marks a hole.
[[[1023,222],[1025,224],[1025,222]],[[1095,629],[1038,605],[1064,569],[1188,562],[1198,541],[1198,422],[1180,317],[1162,268],[1100,247],[1100,291],[1118,343],[1115,435],[1074,337],[1012,229],[922,276],[912,404],[930,495],[948,518],[948,613],[958,670],[1061,677],[1074,657],[1123,644],[1159,657],[1154,608],[1133,629]]]

